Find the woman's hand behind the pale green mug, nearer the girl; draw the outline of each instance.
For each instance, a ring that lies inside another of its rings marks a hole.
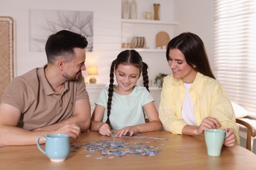
[[[205,129],[218,129],[219,127],[221,127],[221,124],[216,118],[204,118],[200,126],[198,126],[197,135],[203,135]]]

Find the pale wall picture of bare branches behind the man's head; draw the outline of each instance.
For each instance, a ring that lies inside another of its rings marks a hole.
[[[30,10],[30,51],[45,52],[48,37],[68,30],[87,38],[87,52],[93,51],[93,12],[77,10]]]

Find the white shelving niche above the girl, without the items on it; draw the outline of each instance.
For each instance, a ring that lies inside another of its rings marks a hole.
[[[161,3],[160,20],[146,20],[143,16],[139,16],[138,19],[120,18],[121,43],[127,44],[129,42],[130,47],[133,47],[129,48],[129,50],[134,49],[137,52],[161,53],[161,55],[165,53],[165,48],[157,48],[157,46],[163,46],[163,44],[157,44],[156,35],[162,31],[166,32],[170,39],[174,37],[173,30],[179,22],[174,21],[175,18],[169,17],[173,16],[173,9],[169,9],[169,7],[173,7],[173,1],[169,0]],[[148,0],[137,1],[137,3],[139,7],[138,11],[147,11],[144,6],[152,5],[152,2]],[[139,13],[141,14],[141,12]],[[144,37],[144,48],[134,48],[136,45],[133,45],[133,37]],[[127,48],[121,48],[121,50],[127,50]]]

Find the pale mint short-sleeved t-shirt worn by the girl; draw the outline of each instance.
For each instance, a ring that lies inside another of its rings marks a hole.
[[[145,123],[144,105],[154,101],[150,92],[145,87],[135,86],[129,95],[119,95],[114,90],[110,112],[112,129],[121,129],[124,126],[135,126]],[[102,122],[107,120],[108,87],[103,88],[96,99],[96,105],[105,108]]]

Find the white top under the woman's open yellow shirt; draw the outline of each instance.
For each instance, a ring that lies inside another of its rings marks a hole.
[[[187,84],[184,82],[183,82],[183,84],[186,89],[186,94],[185,94],[185,98],[184,98],[182,110],[181,110],[182,119],[188,125],[198,126],[198,124],[196,123],[196,119],[194,117],[194,112],[193,112],[194,104],[192,103],[192,99],[189,95],[189,89],[192,84]]]

